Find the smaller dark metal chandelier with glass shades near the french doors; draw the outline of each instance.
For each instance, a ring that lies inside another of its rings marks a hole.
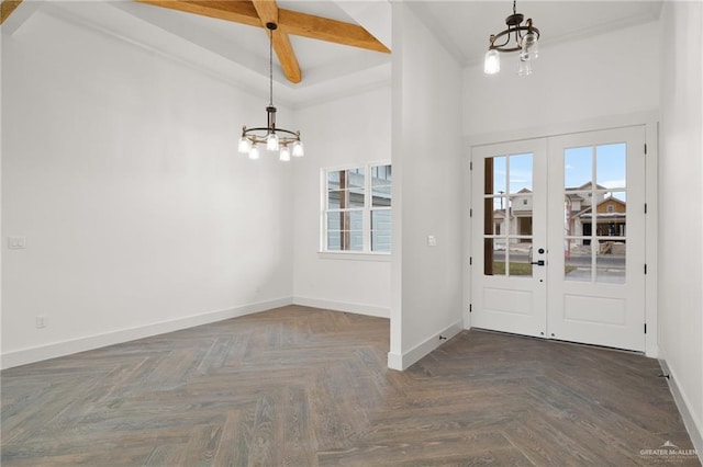
[[[495,75],[501,70],[501,52],[520,50],[517,75],[526,76],[532,73],[532,60],[537,58],[537,41],[539,39],[539,30],[533,26],[532,19],[527,19],[523,24],[522,14],[516,11],[516,0],[513,0],[513,14],[505,19],[507,29],[498,34],[491,34],[491,45],[486,53],[483,60],[483,72],[487,75]],[[504,38],[504,39],[501,39]],[[496,43],[498,39],[501,39]],[[514,42],[511,42],[514,39]]]

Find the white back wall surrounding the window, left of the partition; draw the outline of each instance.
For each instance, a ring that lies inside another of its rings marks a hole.
[[[304,107],[293,160],[293,295],[301,305],[389,317],[390,258],[320,253],[321,170],[391,159],[390,87]],[[375,258],[375,259],[373,259]]]

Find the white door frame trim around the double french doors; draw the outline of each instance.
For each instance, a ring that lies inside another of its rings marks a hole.
[[[647,215],[645,218],[645,262],[647,264],[647,275],[645,276],[645,322],[647,324],[647,333],[645,334],[645,355],[656,358],[659,356],[658,348],[658,193],[657,184],[657,167],[658,167],[658,116],[655,112],[643,112],[629,115],[618,115],[601,117],[591,121],[574,122],[568,124],[550,125],[531,129],[518,129],[514,132],[496,132],[483,135],[470,135],[465,138],[465,314],[464,328],[471,329],[471,307],[472,307],[472,274],[480,274],[480,271],[473,271],[471,266],[471,258],[473,244],[475,219],[472,217],[472,208],[476,202],[482,200],[472,198],[472,176],[471,176],[471,150],[475,146],[484,146],[492,144],[502,144],[510,141],[520,141],[524,139],[549,138],[553,136],[562,136],[583,132],[596,132],[614,129],[626,126],[643,125],[645,127],[646,161],[645,161],[645,183],[647,186],[645,194],[645,203],[647,204]]]

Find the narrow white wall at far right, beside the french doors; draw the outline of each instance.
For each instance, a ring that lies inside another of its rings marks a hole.
[[[702,453],[703,3],[665,2],[662,23],[659,348]]]

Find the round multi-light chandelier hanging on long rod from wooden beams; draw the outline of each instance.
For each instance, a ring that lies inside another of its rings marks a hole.
[[[303,156],[303,143],[300,140],[300,132],[291,132],[276,127],[276,107],[274,106],[274,31],[278,27],[276,23],[266,23],[269,30],[269,103],[266,107],[267,125],[258,128],[242,127],[239,138],[239,152],[249,156],[249,159],[259,158],[258,145],[266,145],[269,151],[278,151],[278,157],[282,161],[289,161],[291,153],[293,157]]]

